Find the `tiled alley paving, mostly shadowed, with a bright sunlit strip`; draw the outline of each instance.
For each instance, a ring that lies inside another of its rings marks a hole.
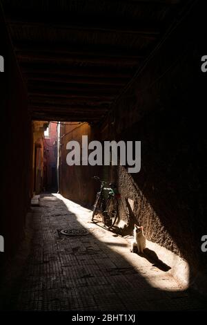
[[[130,253],[128,239],[91,211],[59,194],[45,194],[32,207],[31,252],[13,297],[16,310],[201,310],[195,293],[183,290],[168,272]],[[88,230],[64,236],[66,228]]]

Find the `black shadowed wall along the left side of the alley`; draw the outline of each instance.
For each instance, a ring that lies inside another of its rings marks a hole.
[[[0,73],[1,184],[5,185],[1,188],[0,214],[0,234],[5,242],[5,252],[0,254],[2,268],[24,236],[30,203],[32,131],[26,86],[10,45],[1,7],[0,24],[0,55],[5,64],[4,72]]]

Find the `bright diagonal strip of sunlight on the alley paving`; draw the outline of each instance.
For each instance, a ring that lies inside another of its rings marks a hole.
[[[186,289],[184,286],[181,286],[181,284],[179,284],[169,272],[164,272],[156,266],[153,266],[153,263],[148,261],[145,257],[130,252],[130,239],[125,239],[122,236],[115,235],[106,230],[106,228],[103,228],[103,225],[101,225],[101,219],[97,224],[91,223],[90,219],[92,211],[68,200],[67,198],[63,198],[61,194],[52,195],[63,201],[63,203],[68,207],[68,211],[75,214],[77,221],[79,221],[83,228],[88,229],[92,236],[95,236],[96,239],[104,243],[108,249],[120,254],[121,257],[132,266],[132,268],[137,270],[137,272],[144,277],[150,286],[168,291],[182,291]]]

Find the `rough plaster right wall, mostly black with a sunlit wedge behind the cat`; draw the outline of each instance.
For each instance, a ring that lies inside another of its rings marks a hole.
[[[200,62],[206,31],[195,19],[202,21],[196,7],[119,98],[103,139],[141,140],[141,171],[117,169],[122,198],[134,201],[135,221],[147,238],[186,259],[190,283],[202,278],[203,286],[206,75]]]

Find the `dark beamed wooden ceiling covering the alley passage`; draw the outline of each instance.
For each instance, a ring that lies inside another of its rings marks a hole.
[[[34,120],[99,122],[184,0],[1,0]]]

